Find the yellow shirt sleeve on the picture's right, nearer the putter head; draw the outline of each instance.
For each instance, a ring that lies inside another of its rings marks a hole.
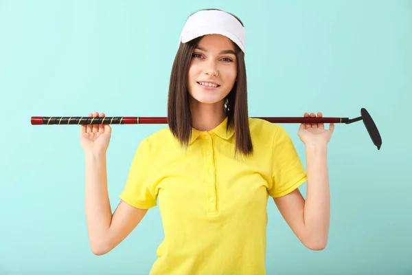
[[[278,126],[273,138],[272,156],[272,185],[268,190],[271,197],[287,195],[307,181],[306,170],[282,126]]]

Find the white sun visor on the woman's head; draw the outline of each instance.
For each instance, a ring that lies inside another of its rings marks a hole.
[[[201,10],[190,16],[181,32],[180,43],[206,34],[221,34],[227,36],[242,52],[246,50],[246,31],[233,15],[221,10]]]

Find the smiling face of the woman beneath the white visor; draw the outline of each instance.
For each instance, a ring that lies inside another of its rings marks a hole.
[[[203,37],[192,53],[187,80],[189,94],[198,102],[221,102],[231,91],[236,76],[232,41],[219,34]]]

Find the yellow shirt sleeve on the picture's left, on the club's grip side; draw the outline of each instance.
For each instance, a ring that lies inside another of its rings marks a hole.
[[[126,203],[141,209],[149,209],[157,204],[157,195],[151,182],[150,142],[144,139],[138,146],[130,166],[126,186],[119,195]]]

